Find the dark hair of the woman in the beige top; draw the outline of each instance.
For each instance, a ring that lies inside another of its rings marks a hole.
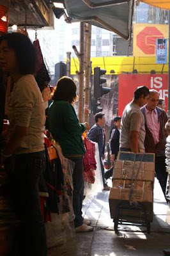
[[[0,37],[0,44],[3,41],[6,41],[8,47],[15,51],[20,74],[34,74],[36,67],[36,51],[31,40],[21,33],[8,33]]]

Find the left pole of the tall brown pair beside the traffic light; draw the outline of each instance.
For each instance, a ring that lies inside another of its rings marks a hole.
[[[79,53],[79,122],[83,122],[83,92],[84,92],[84,23],[80,25],[80,53]]]

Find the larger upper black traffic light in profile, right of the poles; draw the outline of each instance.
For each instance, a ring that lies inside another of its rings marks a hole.
[[[109,93],[111,88],[103,87],[107,79],[101,78],[100,76],[105,75],[106,70],[100,69],[99,67],[94,68],[94,93],[93,96],[95,99],[100,99],[102,95]]]

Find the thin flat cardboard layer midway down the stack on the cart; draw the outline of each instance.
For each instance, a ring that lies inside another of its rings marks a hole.
[[[134,189],[136,190],[152,190],[153,183],[151,181],[142,181],[142,180],[123,180],[123,179],[112,179],[113,188],[127,188],[130,189],[134,184]]]

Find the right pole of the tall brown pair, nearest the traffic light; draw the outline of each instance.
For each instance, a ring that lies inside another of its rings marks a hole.
[[[89,122],[89,82],[90,82],[90,53],[91,53],[91,24],[86,25],[86,61],[85,61],[85,89],[84,89],[84,122]]]

